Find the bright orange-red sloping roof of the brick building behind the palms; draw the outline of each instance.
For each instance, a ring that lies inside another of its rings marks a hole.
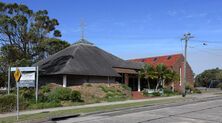
[[[156,56],[156,57],[148,57],[148,58],[138,58],[131,59],[130,61],[134,62],[144,62],[150,65],[156,66],[158,64],[165,64],[167,67],[171,67],[180,59],[183,58],[183,54],[173,54],[166,56]]]

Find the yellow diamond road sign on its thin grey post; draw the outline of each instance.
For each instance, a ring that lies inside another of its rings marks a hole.
[[[19,80],[21,76],[22,76],[21,71],[18,68],[16,68],[14,77],[17,85],[17,120],[19,119]]]

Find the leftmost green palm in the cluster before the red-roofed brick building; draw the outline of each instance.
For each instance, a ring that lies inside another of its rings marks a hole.
[[[139,75],[141,78],[147,80],[148,89],[150,89],[150,79],[155,79],[155,71],[154,68],[150,64],[145,64],[143,68],[140,70]]]

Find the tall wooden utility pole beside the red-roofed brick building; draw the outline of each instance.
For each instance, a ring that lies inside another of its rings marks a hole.
[[[194,38],[191,33],[185,33],[184,37],[181,39],[182,41],[185,41],[185,48],[184,48],[184,70],[183,70],[183,82],[182,82],[182,96],[185,97],[186,96],[186,83],[187,83],[187,45],[188,45],[188,41]]]

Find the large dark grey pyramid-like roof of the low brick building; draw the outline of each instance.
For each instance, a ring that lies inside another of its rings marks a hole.
[[[43,75],[94,75],[120,76],[113,68],[140,69],[140,63],[120,59],[90,43],[75,43],[64,50],[41,60]]]

